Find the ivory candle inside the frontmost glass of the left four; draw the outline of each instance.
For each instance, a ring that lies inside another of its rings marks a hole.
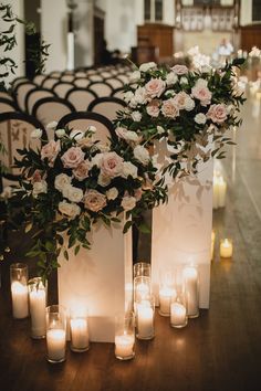
[[[63,329],[50,329],[46,332],[48,359],[60,362],[65,360],[66,335]]]

